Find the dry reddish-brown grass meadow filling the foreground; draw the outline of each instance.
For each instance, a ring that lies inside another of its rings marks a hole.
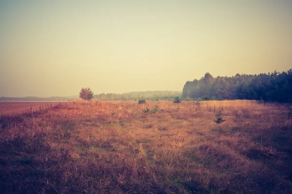
[[[291,161],[291,104],[72,101],[0,116],[1,194],[288,194]]]

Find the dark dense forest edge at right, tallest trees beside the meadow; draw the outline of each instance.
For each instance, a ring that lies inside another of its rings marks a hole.
[[[217,77],[206,73],[200,80],[187,81],[183,99],[255,99],[292,102],[292,69],[259,75]]]

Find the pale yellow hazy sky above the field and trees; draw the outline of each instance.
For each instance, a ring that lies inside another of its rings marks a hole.
[[[0,0],[0,97],[182,91],[292,68],[291,0]]]

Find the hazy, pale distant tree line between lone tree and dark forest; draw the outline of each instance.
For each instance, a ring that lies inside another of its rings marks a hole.
[[[173,92],[173,91],[146,91],[146,92],[129,92],[123,94],[98,94],[94,95],[94,99],[97,100],[134,100],[138,101],[141,96],[146,98],[146,100],[173,100],[176,96],[181,96],[181,92]]]

